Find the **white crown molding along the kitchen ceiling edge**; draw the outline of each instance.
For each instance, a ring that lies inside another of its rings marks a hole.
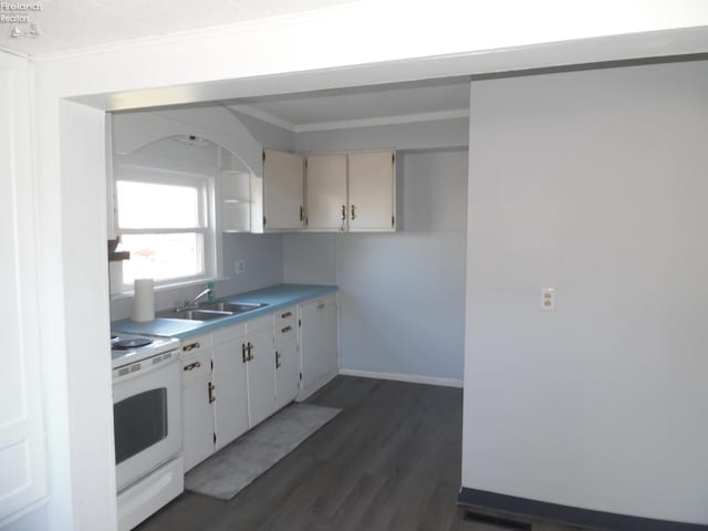
[[[376,127],[382,125],[413,124],[417,122],[439,122],[444,119],[469,118],[469,108],[452,108],[431,113],[402,114],[398,116],[376,116],[374,118],[340,119],[335,122],[313,122],[311,124],[293,124],[271,113],[251,105],[229,105],[229,108],[243,113],[267,124],[275,125],[291,133],[311,133],[315,131],[350,129],[355,127]]]

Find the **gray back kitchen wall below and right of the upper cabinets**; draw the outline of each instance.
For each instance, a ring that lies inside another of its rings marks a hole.
[[[339,284],[343,368],[460,381],[467,152],[398,164],[405,230],[285,235],[284,280]]]

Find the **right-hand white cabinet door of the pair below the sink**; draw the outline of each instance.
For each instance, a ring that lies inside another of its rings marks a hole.
[[[249,332],[251,360],[248,362],[248,405],[250,427],[275,412],[275,350],[273,329]]]

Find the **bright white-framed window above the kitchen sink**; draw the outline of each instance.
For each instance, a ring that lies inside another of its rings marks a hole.
[[[140,278],[165,285],[216,277],[211,178],[124,165],[115,187],[117,232],[131,252],[121,291]]]

